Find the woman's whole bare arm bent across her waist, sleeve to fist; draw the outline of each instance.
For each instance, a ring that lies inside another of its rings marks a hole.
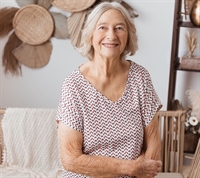
[[[140,156],[137,160],[122,160],[85,155],[82,153],[82,133],[62,122],[59,122],[58,138],[62,165],[71,172],[92,177],[130,175],[151,178],[160,170],[160,162],[146,159],[145,156]]]

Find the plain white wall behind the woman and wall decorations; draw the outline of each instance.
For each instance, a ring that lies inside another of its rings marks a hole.
[[[135,19],[139,51],[129,59],[143,65],[150,72],[163,109],[166,109],[175,0],[126,2],[139,13]],[[0,8],[5,6],[18,7],[15,0],[0,0]],[[0,59],[6,41],[7,38],[0,39]],[[53,52],[50,62],[41,69],[22,66],[22,77],[13,77],[5,76],[0,65],[0,108],[57,107],[64,78],[87,59],[72,47],[70,40],[52,38],[51,41]],[[182,45],[182,54],[186,52],[185,48]],[[184,99],[184,92],[191,84],[199,89],[199,78],[199,73],[178,72],[178,97]]]

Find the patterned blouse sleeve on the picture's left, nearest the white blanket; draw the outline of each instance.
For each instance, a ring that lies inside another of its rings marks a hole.
[[[61,97],[57,108],[57,121],[62,121],[65,125],[83,132],[82,118],[78,109],[78,99],[73,82],[69,78],[62,84]]]

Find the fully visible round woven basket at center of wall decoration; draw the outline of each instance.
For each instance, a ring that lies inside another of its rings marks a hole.
[[[38,45],[51,37],[54,22],[45,8],[31,4],[24,6],[15,14],[13,28],[23,42]]]

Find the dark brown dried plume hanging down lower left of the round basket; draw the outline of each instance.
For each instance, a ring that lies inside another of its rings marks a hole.
[[[5,74],[10,72],[13,75],[21,75],[21,64],[11,51],[20,46],[22,43],[23,42],[16,36],[14,32],[10,35],[8,42],[4,47],[3,53],[3,66]]]

